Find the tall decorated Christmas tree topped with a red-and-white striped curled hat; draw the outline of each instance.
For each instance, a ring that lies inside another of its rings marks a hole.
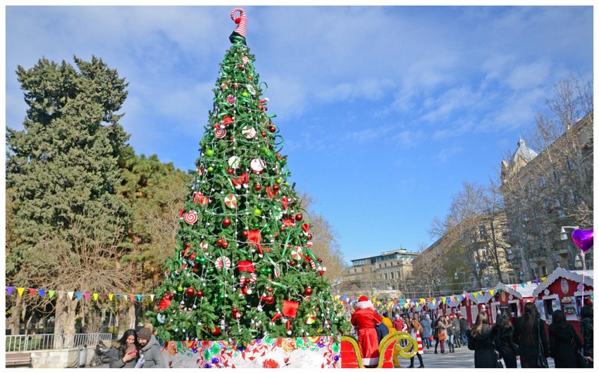
[[[245,11],[235,8],[231,18],[233,45],[149,320],[167,341],[333,336],[347,321],[310,249],[310,223],[278,152],[283,141],[276,115],[266,114]]]

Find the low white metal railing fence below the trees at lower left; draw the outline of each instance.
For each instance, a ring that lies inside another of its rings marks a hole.
[[[110,333],[92,334],[25,334],[6,336],[6,352],[51,350],[54,348],[70,348],[78,346],[96,346],[98,341],[109,345]]]

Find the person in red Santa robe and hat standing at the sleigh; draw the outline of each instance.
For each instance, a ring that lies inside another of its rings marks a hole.
[[[362,363],[364,366],[378,365],[378,338],[374,327],[383,319],[374,312],[374,307],[366,296],[358,298],[354,308],[351,322],[358,330],[358,346]]]

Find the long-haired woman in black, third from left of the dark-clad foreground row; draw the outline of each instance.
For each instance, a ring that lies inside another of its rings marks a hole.
[[[534,303],[524,304],[524,315],[517,317],[514,321],[512,339],[518,345],[521,367],[537,368],[540,355],[543,355],[545,361],[548,358],[549,343],[545,332],[545,322],[541,320],[541,315]]]

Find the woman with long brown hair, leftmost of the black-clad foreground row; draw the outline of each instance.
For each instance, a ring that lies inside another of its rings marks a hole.
[[[475,368],[497,367],[494,340],[495,331],[490,327],[488,315],[485,312],[479,313],[468,337],[468,349],[474,350]]]

